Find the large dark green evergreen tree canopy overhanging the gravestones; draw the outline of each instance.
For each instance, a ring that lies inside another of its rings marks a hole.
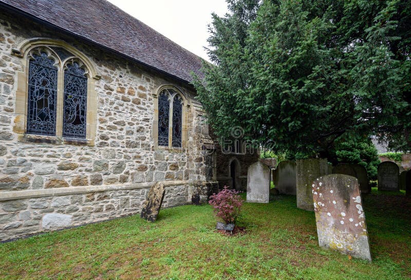
[[[332,162],[334,142],[346,133],[405,145],[408,2],[228,3],[230,14],[213,15],[210,26],[217,67],[204,65],[204,79],[195,81],[217,136],[241,126],[248,140],[274,141],[276,154]]]

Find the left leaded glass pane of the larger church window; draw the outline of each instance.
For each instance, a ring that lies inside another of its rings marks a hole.
[[[29,62],[27,133],[55,135],[57,69],[47,53],[33,54]]]

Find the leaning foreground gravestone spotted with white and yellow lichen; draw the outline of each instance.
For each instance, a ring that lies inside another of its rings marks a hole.
[[[330,174],[312,184],[320,247],[371,261],[360,189],[355,177]]]

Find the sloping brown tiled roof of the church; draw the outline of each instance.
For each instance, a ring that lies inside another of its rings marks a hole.
[[[0,4],[186,82],[192,81],[191,71],[201,75],[197,55],[105,0],[0,0]]]

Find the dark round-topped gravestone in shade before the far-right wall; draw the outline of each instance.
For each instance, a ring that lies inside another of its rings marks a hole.
[[[391,161],[384,161],[378,165],[378,191],[400,190],[400,173],[398,165]]]

